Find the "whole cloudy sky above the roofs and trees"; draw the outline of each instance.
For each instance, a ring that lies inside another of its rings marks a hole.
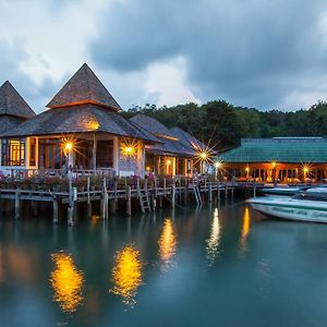
[[[327,100],[326,0],[0,0],[0,83],[33,108],[87,62],[120,105]]]

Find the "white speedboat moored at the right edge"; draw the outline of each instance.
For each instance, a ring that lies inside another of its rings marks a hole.
[[[253,197],[247,202],[255,210],[266,216],[289,220],[327,222],[326,187],[308,189],[292,197]]]

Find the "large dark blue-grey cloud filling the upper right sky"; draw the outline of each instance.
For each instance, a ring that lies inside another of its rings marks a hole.
[[[327,78],[326,10],[320,0],[117,1],[100,17],[92,56],[124,72],[182,56],[202,100],[268,109]]]

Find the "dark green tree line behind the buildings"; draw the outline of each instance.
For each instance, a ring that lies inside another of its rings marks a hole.
[[[322,101],[298,111],[261,111],[225,100],[160,108],[145,105],[134,106],[121,114],[130,118],[138,112],[168,128],[179,126],[218,150],[239,145],[242,137],[327,135],[327,102]]]

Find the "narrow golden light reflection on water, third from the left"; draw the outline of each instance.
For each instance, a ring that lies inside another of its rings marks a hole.
[[[177,237],[173,229],[171,218],[166,218],[164,222],[162,233],[158,241],[159,257],[162,261],[164,269],[171,265],[171,261],[175,254]]]

